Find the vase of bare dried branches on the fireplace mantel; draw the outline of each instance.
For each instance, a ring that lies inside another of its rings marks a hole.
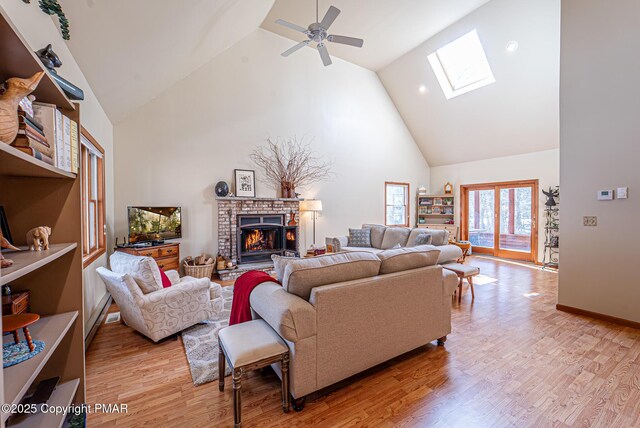
[[[283,198],[295,198],[296,188],[317,183],[331,175],[333,162],[315,156],[311,147],[295,137],[267,139],[250,155],[265,174],[261,181],[280,189]]]

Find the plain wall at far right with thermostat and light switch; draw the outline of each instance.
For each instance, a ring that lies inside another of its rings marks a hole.
[[[640,3],[564,0],[560,83],[562,305],[640,322]],[[596,192],[629,186],[629,199]],[[597,216],[597,227],[582,225]]]

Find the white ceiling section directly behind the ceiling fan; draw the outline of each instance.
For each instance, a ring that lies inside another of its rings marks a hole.
[[[359,49],[328,43],[330,54],[377,71],[488,1],[320,0],[319,19],[331,5],[340,9],[329,33],[364,39],[364,46]],[[305,40],[304,34],[275,20],[281,18],[306,28],[315,21],[315,11],[314,0],[276,0],[262,28],[300,42]]]

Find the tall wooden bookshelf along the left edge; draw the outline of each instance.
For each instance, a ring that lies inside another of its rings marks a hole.
[[[0,80],[45,71],[38,58],[0,8]],[[72,103],[48,73],[34,92],[38,101],[55,104],[80,124],[80,106]],[[85,401],[84,316],[82,287],[81,179],[0,142],[0,205],[14,244],[26,248],[26,232],[50,226],[51,248],[42,252],[4,253],[14,265],[0,271],[0,284],[13,292],[30,291],[30,312],[41,316],[30,328],[45,342],[35,357],[2,370],[3,403],[19,403],[40,380],[59,376],[50,405]],[[3,343],[12,340],[3,337]],[[3,413],[0,426],[9,417]],[[64,415],[38,414],[21,427],[59,427]]]

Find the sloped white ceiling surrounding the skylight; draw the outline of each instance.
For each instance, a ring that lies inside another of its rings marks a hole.
[[[447,100],[427,56],[474,29],[496,82]],[[440,166],[557,149],[559,62],[560,0],[492,0],[378,74],[429,165]]]

